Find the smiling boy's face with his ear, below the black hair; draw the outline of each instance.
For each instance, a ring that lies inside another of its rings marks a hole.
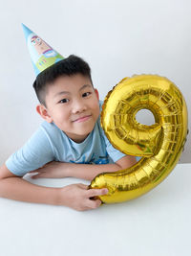
[[[81,74],[59,77],[48,86],[45,100],[47,107],[40,106],[41,116],[75,142],[82,142],[95,127],[98,93],[89,78]]]

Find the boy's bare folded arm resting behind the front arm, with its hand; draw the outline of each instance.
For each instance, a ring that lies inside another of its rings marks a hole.
[[[96,175],[100,173],[116,172],[119,170],[127,169],[130,166],[136,164],[136,157],[126,155],[120,158],[114,164],[74,164],[74,163],[60,163],[51,162],[32,173],[38,173],[33,175],[32,178],[39,177],[67,177],[73,176],[77,178],[83,178],[92,180]]]

